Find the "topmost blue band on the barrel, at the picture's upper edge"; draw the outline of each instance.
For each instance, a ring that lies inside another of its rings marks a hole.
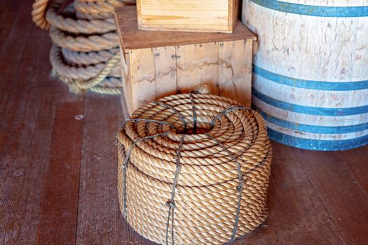
[[[294,13],[297,15],[310,15],[318,17],[364,17],[368,16],[368,6],[356,7],[331,7],[315,6],[299,3],[287,3],[285,1],[275,0],[250,0],[265,8],[271,8],[285,13]]]

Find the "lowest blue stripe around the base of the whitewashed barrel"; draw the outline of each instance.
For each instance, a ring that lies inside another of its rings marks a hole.
[[[355,139],[344,139],[336,141],[317,140],[317,139],[301,139],[292,137],[287,134],[282,134],[268,128],[268,136],[274,141],[278,141],[288,146],[294,146],[306,150],[316,151],[344,151],[364,146],[368,144],[368,135]]]

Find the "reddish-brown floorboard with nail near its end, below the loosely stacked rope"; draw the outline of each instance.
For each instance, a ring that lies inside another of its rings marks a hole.
[[[75,243],[83,140],[81,117],[83,100],[64,102],[56,106],[37,244]],[[64,137],[65,135],[69,137]]]

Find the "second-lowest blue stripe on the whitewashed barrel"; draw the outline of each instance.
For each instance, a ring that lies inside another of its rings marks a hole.
[[[253,105],[252,107],[259,111],[257,106]],[[263,111],[259,111],[259,113],[261,113],[264,119],[266,119],[270,123],[273,123],[280,127],[287,128],[289,130],[296,130],[299,132],[308,132],[313,134],[348,134],[368,130],[368,123],[350,126],[317,126],[317,125],[293,123],[287,120],[283,120],[281,118],[276,118],[267,113],[264,113]]]

